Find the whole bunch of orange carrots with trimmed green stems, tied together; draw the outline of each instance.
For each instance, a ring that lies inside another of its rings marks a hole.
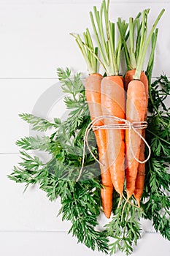
[[[103,0],[100,10],[93,7],[93,12],[90,12],[97,46],[94,47],[89,29],[83,33],[83,39],[79,34],[72,34],[88,66],[85,95],[92,121],[100,116],[115,116],[131,123],[147,120],[148,78],[143,71],[144,59],[151,43],[147,65],[150,69],[158,35],[156,26],[164,10],[161,10],[148,34],[149,11],[139,12],[136,18],[129,18],[128,23],[118,18],[115,24],[109,20],[109,1]],[[119,34],[117,40],[116,28]],[[120,75],[120,56],[123,54],[128,69],[124,77]],[[98,64],[104,69],[104,75],[98,73]],[[121,120],[115,121],[114,118],[103,118],[96,126],[121,123]],[[137,131],[144,138],[144,129]],[[98,159],[102,163],[101,200],[105,216],[109,218],[112,213],[113,189],[120,195],[119,205],[125,196],[125,187],[127,202],[134,195],[140,207],[145,173],[144,141],[134,130],[129,136],[129,129],[103,128],[94,132]]]

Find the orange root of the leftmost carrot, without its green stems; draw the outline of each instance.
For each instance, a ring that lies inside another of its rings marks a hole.
[[[98,116],[102,116],[101,110],[101,80],[102,76],[98,73],[88,76],[85,80],[85,95],[88,101],[91,120]],[[103,121],[98,121],[96,126],[104,125]],[[104,164],[101,168],[101,200],[104,214],[107,218],[112,212],[112,192],[113,186],[109,173],[109,165],[107,160],[107,138],[105,129],[97,129],[95,131],[96,143],[98,146],[99,161]]]

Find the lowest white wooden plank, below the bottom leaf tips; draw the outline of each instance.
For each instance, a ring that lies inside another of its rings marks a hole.
[[[103,256],[100,252],[92,252],[83,244],[77,244],[77,238],[72,238],[64,232],[1,232],[0,253],[3,256],[55,256],[55,255],[81,255]],[[169,241],[159,234],[144,233],[134,249],[132,256],[169,255]],[[125,254],[118,252],[117,256]]]

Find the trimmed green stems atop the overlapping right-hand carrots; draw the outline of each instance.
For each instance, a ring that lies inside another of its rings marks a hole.
[[[161,16],[163,15],[164,11],[165,11],[164,9],[161,10],[160,14],[158,15],[158,18],[155,20],[155,23],[152,25],[152,29],[150,30],[150,34],[148,36],[147,36],[147,20],[148,20],[148,14],[150,12],[149,9],[144,10],[142,12],[142,21],[139,20],[141,16],[140,12],[135,19],[129,18],[128,43],[125,41],[125,34],[123,37],[123,33],[122,33],[123,21],[120,18],[117,21],[117,26],[120,31],[121,37],[123,39],[123,46],[125,51],[125,59],[126,59],[127,67],[128,69],[136,69],[134,79],[140,79],[140,74],[143,69],[144,59],[147,53],[147,48],[150,45],[150,40],[152,39],[152,41],[154,41],[154,44],[156,43],[158,29],[156,29],[155,31],[155,28],[158,24],[158,21],[161,19]],[[155,45],[154,45],[154,50],[155,50]],[[148,69],[152,63],[154,50],[152,49],[150,53],[150,63],[148,64]]]

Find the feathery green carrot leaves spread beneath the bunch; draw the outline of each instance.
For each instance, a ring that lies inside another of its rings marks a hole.
[[[69,69],[58,69],[58,78],[66,93],[64,101],[69,109],[66,120],[54,118],[50,122],[31,114],[20,115],[33,129],[46,131],[53,127],[53,133],[48,137],[25,137],[16,142],[21,148],[21,162],[13,168],[9,178],[26,184],[26,188],[31,184],[39,184],[49,200],[60,197],[59,214],[62,214],[63,220],[72,223],[69,233],[90,249],[111,255],[117,251],[130,255],[140,238],[141,217],[151,219],[155,230],[170,240],[170,175],[167,168],[170,162],[170,126],[169,109],[163,103],[169,94],[168,78],[162,75],[150,86],[150,115],[146,137],[152,156],[146,165],[141,202],[143,211],[134,205],[133,197],[130,203],[123,198],[117,208],[119,195],[114,192],[112,219],[103,231],[98,231],[98,216],[101,213],[100,170],[88,151],[85,152],[82,176],[76,182],[82,165],[83,141],[90,116],[80,73],[74,75],[74,78],[71,75]],[[88,139],[93,154],[98,157],[93,132]],[[42,161],[36,156],[36,150],[48,152],[50,161]]]

